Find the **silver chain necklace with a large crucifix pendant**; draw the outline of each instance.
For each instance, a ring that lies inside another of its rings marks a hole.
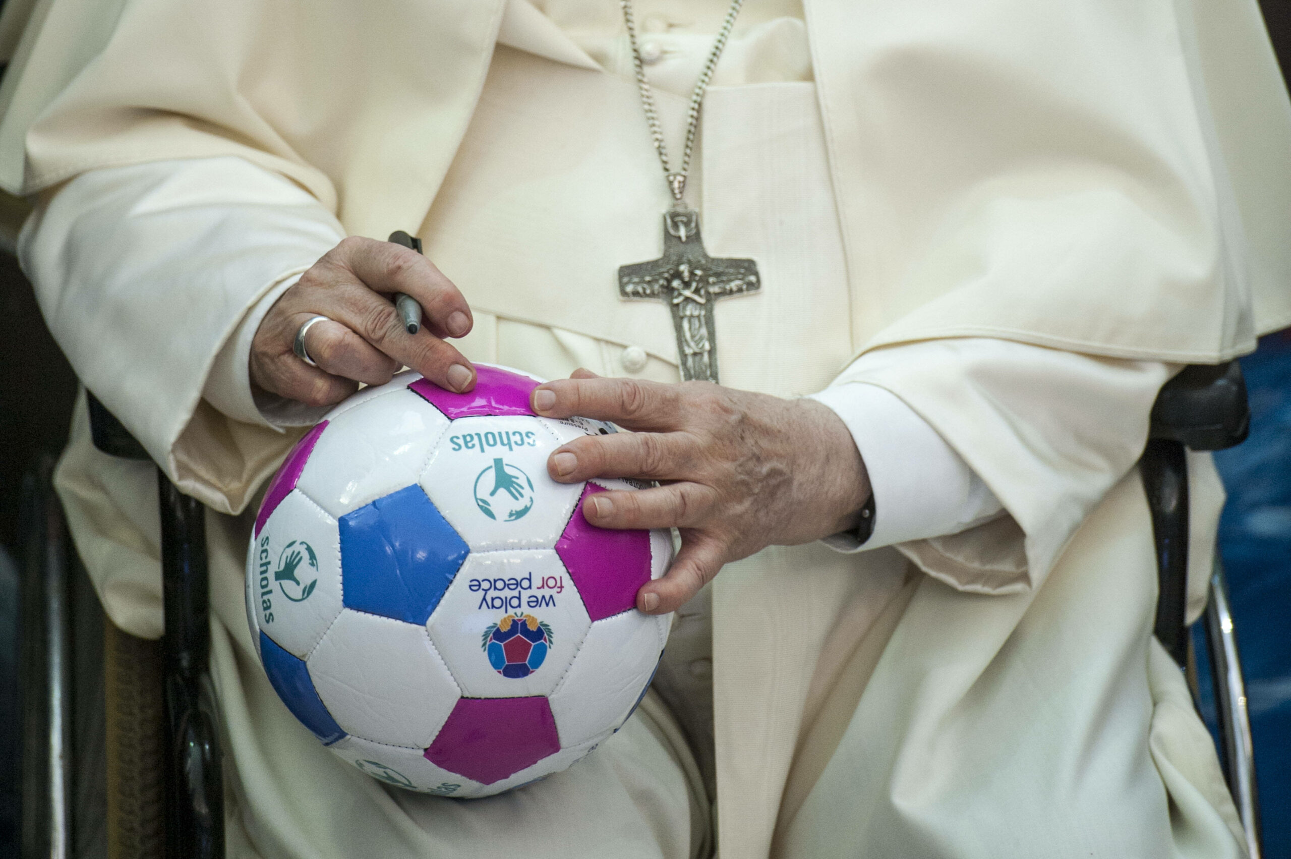
[[[709,52],[707,62],[704,63],[700,79],[695,81],[695,90],[691,93],[691,103],[686,112],[686,146],[678,171],[673,171],[669,164],[664,129],[655,110],[655,94],[649,81],[646,80],[646,63],[636,44],[633,3],[620,0],[620,5],[624,9],[624,23],[627,26],[627,41],[633,49],[633,67],[636,70],[642,107],[649,124],[655,151],[658,152],[660,164],[664,167],[664,178],[673,195],[673,208],[664,213],[664,256],[649,262],[620,266],[618,295],[624,298],[666,302],[673,311],[682,377],[715,382],[718,357],[713,306],[718,298],[726,296],[757,292],[762,280],[758,265],[753,260],[715,260],[707,254],[700,239],[700,213],[688,208],[683,198],[686,180],[691,172],[691,152],[695,149],[704,93],[713,79],[718,58],[722,57],[722,50],[731,37],[731,30],[735,27],[744,0],[732,0],[722,30],[713,43],[713,50]]]

